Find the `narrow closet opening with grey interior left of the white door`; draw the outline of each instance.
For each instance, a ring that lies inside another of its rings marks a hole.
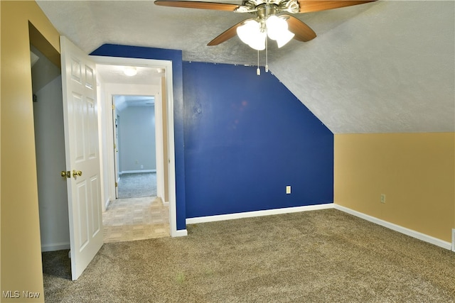
[[[33,45],[31,58],[41,251],[69,249],[61,70]]]

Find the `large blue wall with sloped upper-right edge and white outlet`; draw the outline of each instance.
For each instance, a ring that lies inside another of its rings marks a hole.
[[[333,133],[270,72],[183,62],[183,96],[187,218],[333,202]]]

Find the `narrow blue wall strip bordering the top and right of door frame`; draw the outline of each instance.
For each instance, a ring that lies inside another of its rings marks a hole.
[[[185,164],[183,153],[183,79],[182,51],[162,48],[145,48],[128,45],[105,44],[90,55],[130,57],[172,61],[173,75],[173,123],[176,154],[176,221],[177,229],[186,229]]]

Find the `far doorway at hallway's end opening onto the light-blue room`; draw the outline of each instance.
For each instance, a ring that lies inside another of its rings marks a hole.
[[[114,95],[117,199],[156,197],[155,97]]]

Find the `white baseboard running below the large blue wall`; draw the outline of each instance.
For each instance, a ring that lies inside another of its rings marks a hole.
[[[267,209],[263,211],[247,211],[237,214],[221,214],[216,216],[199,216],[197,218],[188,218],[186,219],[186,224],[197,224],[205,222],[214,222],[214,221],[223,221],[223,220],[232,220],[232,219],[241,219],[241,218],[252,218],[255,216],[270,216],[274,214],[290,214],[294,212],[301,211],[314,211],[319,209],[332,209],[333,203],[328,204],[319,204],[319,205],[309,205],[309,206],[296,206],[296,207],[287,207],[283,209]]]

